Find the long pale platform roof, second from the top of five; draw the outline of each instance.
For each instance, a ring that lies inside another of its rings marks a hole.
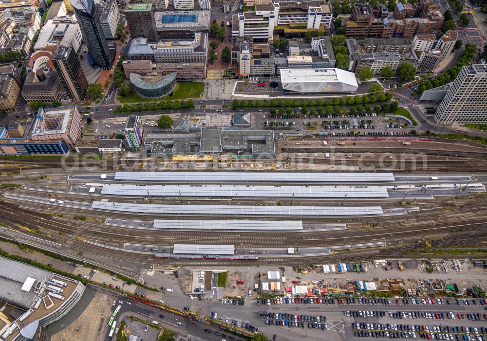
[[[152,197],[389,197],[380,186],[245,186],[105,184],[103,195]]]

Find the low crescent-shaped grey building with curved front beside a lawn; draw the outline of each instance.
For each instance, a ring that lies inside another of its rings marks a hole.
[[[157,73],[157,75],[142,76],[131,73],[130,81],[135,91],[142,96],[159,97],[171,93],[176,87],[176,72],[166,75]]]

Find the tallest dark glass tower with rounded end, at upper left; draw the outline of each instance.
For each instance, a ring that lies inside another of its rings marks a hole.
[[[110,70],[113,57],[108,49],[107,39],[101,26],[100,14],[96,10],[94,1],[71,0],[71,5],[93,62],[104,70]]]

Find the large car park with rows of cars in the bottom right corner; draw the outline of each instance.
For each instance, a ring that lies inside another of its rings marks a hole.
[[[257,305],[262,308],[259,319],[263,320],[267,334],[273,333],[268,328],[276,328],[278,333],[285,328],[298,333],[323,333],[323,340],[335,340],[333,335],[336,334],[330,332],[337,332],[347,335],[346,340],[374,337],[484,341],[487,336],[484,328],[486,303],[484,299],[426,297],[276,297],[257,300]],[[253,324],[250,330],[261,323]]]

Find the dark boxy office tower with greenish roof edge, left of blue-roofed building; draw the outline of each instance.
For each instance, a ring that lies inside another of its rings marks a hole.
[[[143,37],[154,42],[159,40],[151,3],[129,3],[125,6],[125,18],[132,39]]]

